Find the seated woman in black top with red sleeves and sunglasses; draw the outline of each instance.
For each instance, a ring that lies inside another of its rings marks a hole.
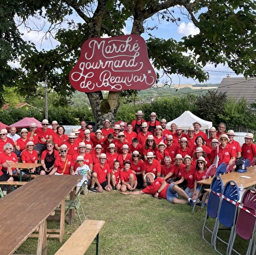
[[[54,168],[54,162],[59,157],[59,152],[54,149],[54,142],[52,140],[47,141],[46,150],[42,152],[40,175],[49,174]]]

